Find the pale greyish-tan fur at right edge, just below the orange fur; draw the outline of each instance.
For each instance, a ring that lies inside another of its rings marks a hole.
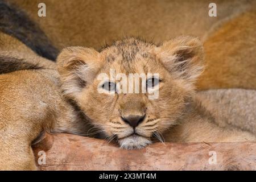
[[[232,125],[256,133],[256,91],[217,89],[197,93],[202,105],[221,127]]]

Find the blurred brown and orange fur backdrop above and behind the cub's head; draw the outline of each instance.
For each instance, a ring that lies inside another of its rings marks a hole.
[[[38,23],[53,46],[100,49],[123,36],[155,43],[179,35],[204,43],[206,68],[197,86],[256,89],[256,1],[218,0],[209,16],[204,0],[8,0]]]

